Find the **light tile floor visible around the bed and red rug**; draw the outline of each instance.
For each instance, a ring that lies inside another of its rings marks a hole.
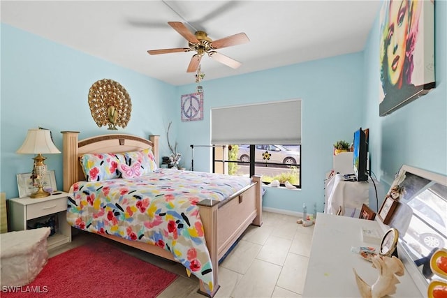
[[[314,226],[302,227],[296,220],[295,216],[264,211],[263,225],[250,226],[219,265],[221,288],[215,297],[301,297]],[[50,257],[91,241],[108,241],[131,255],[179,274],[159,297],[205,297],[197,293],[198,279],[188,278],[182,265],[96,234],[75,234],[71,244],[54,248]]]

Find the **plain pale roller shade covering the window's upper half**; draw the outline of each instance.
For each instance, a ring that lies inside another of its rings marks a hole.
[[[212,144],[301,144],[301,100],[211,110]]]

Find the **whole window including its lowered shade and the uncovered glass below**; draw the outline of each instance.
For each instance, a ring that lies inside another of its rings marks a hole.
[[[301,188],[301,104],[282,100],[211,110],[213,171]]]

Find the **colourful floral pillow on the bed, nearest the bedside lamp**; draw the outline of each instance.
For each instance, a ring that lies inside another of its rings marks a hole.
[[[80,157],[87,181],[103,181],[121,177],[118,165],[124,162],[123,154],[84,154]]]

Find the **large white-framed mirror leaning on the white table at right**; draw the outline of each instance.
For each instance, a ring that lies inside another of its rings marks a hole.
[[[388,225],[399,231],[406,258],[427,285],[446,281],[432,272],[430,258],[439,248],[447,248],[447,177],[404,165],[388,195],[398,197]]]

